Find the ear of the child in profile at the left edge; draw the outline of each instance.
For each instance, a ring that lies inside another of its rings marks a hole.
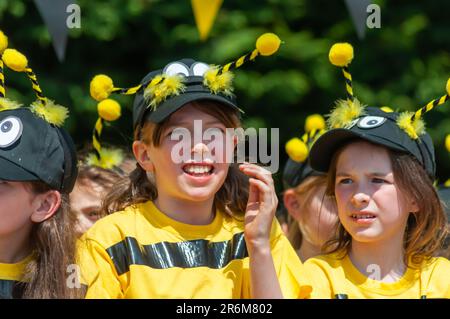
[[[33,212],[31,221],[42,223],[52,217],[61,207],[61,193],[50,190],[43,194],[38,194],[32,201]]]

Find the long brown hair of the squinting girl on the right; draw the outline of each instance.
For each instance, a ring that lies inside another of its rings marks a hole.
[[[348,144],[347,144],[348,145]],[[347,146],[337,151],[330,164],[326,193],[334,196],[336,164],[339,155]],[[403,248],[405,264],[420,266],[435,256],[447,235],[447,216],[433,181],[422,165],[412,155],[387,149],[394,180],[406,197],[414,200],[419,210],[411,213],[406,224]],[[352,237],[338,221],[336,237],[326,243],[328,253],[348,253]],[[411,264],[408,262],[411,261]]]

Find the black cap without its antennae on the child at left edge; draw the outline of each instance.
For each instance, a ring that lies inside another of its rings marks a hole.
[[[29,108],[0,112],[0,180],[42,181],[70,193],[77,172],[75,146],[64,129]]]

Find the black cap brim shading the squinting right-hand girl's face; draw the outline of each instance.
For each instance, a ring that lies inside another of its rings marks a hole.
[[[383,145],[393,150],[406,152],[405,148],[391,140],[378,135],[360,133],[348,129],[333,129],[324,133],[312,146],[309,161],[313,169],[328,172],[331,159],[338,149],[354,139],[363,139],[377,145]]]

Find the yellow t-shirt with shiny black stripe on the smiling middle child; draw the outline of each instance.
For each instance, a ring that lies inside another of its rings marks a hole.
[[[270,241],[283,295],[296,298],[302,264],[277,221]],[[82,242],[87,298],[250,297],[244,222],[220,211],[188,225],[148,201],[99,220]]]

